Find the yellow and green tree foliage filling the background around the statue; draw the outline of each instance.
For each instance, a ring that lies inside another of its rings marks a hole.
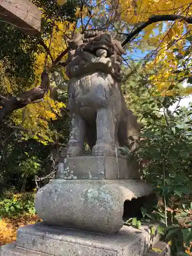
[[[121,87],[127,105],[144,124],[134,156],[143,167],[143,178],[161,197],[148,218],[159,222],[167,242],[174,241],[173,254],[185,249],[183,242],[192,250],[192,110],[179,106],[192,89],[190,1],[32,2],[42,11],[40,35],[31,37],[0,20],[0,243],[8,242],[1,238],[1,230],[15,232],[15,218],[34,216],[33,189],[54,176],[68,140],[67,40],[77,31],[102,29],[126,50]],[[153,15],[159,22],[152,22]],[[42,87],[43,71],[49,74],[47,89]],[[37,88],[41,97],[35,97]],[[31,101],[28,92],[33,92]],[[17,106],[4,115],[6,100],[9,105],[16,100]],[[175,103],[176,109],[170,111]],[[142,213],[147,217],[147,209]],[[185,221],[178,222],[183,217]],[[182,239],[175,236],[178,230]]]

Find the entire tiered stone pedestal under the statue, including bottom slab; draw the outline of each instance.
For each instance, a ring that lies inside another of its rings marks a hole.
[[[153,189],[136,162],[74,157],[59,163],[56,179],[40,188],[35,208],[44,221],[18,229],[0,256],[139,256],[159,240],[150,228],[125,226],[153,205]]]

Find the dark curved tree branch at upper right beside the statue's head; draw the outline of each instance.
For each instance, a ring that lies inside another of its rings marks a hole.
[[[144,28],[156,22],[174,22],[175,20],[184,21],[188,24],[192,24],[192,17],[185,17],[180,15],[154,15],[151,16],[145,23],[142,23],[137,29],[131,32],[126,39],[122,42],[121,46],[125,46],[128,42],[132,40],[133,37],[138,35]]]

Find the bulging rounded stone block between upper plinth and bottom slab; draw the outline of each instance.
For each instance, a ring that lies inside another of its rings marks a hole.
[[[125,200],[151,193],[142,180],[56,179],[37,191],[35,209],[49,225],[111,234],[123,225]]]

